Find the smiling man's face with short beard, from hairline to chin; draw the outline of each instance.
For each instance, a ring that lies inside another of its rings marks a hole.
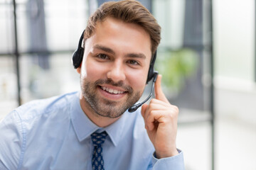
[[[85,42],[80,73],[87,111],[117,118],[142,96],[151,60],[149,34],[134,23],[106,18]]]

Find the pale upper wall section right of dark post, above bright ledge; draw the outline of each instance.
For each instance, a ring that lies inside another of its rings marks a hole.
[[[215,75],[254,78],[255,2],[213,1]]]

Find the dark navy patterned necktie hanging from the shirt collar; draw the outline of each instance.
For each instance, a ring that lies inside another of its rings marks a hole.
[[[91,135],[93,152],[92,152],[92,169],[93,170],[104,170],[104,161],[102,157],[102,145],[107,137],[107,132],[97,133],[94,132]]]

